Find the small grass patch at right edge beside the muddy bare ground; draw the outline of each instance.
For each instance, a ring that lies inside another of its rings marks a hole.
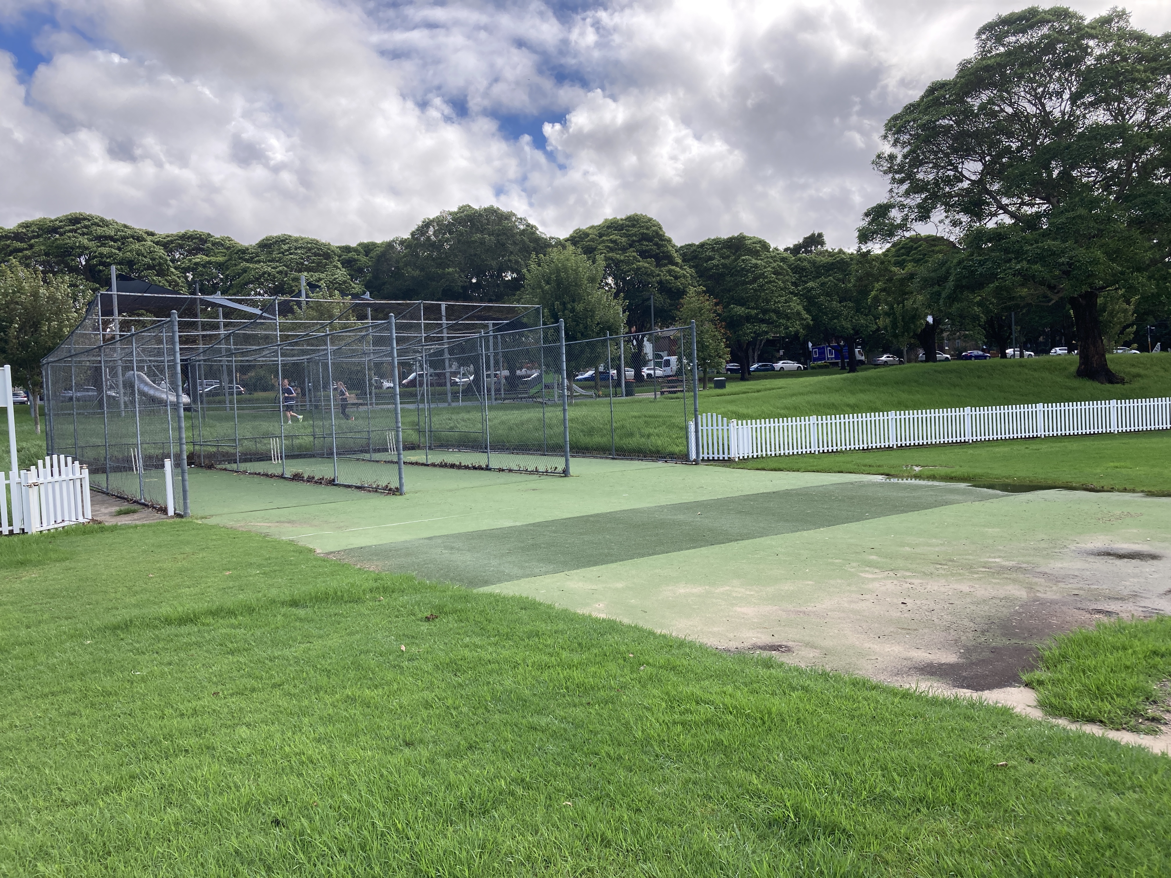
[[[1023,675],[1048,714],[1131,732],[1158,730],[1171,679],[1171,616],[1100,622],[1059,635]],[[1159,684],[1164,684],[1159,691]],[[1162,709],[1160,709],[1162,708]]]

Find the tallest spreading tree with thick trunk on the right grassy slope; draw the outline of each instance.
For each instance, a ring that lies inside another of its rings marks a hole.
[[[889,198],[867,211],[861,243],[938,224],[997,234],[1020,284],[1068,303],[1077,375],[1109,368],[1098,301],[1151,287],[1171,255],[1171,36],[1112,9],[1087,21],[1063,7],[1001,15],[974,57],[932,83],[885,128],[875,164]]]

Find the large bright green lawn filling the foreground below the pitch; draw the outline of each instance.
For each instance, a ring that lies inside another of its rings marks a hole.
[[[196,522],[0,571],[4,876],[1171,872],[1171,762],[1007,708]]]

